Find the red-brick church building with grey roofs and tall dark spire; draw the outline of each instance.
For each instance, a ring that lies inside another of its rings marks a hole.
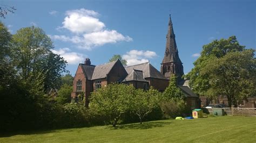
[[[110,83],[132,84],[135,88],[147,90],[150,86],[163,92],[169,85],[169,78],[172,74],[178,76],[178,86],[186,96],[187,105],[191,109],[198,108],[199,98],[187,86],[183,85],[184,75],[183,63],[179,59],[175,34],[173,31],[171,16],[169,17],[168,32],[166,35],[166,47],[164,59],[161,62],[160,71],[154,68],[149,62],[124,67],[120,60],[105,63],[103,65],[91,65],[89,58],[78,65],[74,80],[72,99],[84,93],[85,105],[89,105],[89,97],[92,91],[105,87]],[[186,82],[185,82],[186,83]]]

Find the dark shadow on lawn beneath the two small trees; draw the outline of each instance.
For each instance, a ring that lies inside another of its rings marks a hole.
[[[109,129],[109,130],[149,129],[149,128],[154,128],[154,127],[164,127],[165,125],[169,125],[169,124],[171,124],[171,122],[156,121],[156,122],[145,122],[142,124],[137,123],[137,124],[118,125],[116,127],[107,126],[106,129]]]

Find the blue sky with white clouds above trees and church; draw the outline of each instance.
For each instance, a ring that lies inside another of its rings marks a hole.
[[[256,47],[256,1],[2,1],[14,14],[0,20],[12,34],[35,25],[48,34],[56,52],[75,74],[78,63],[92,65],[120,54],[129,65],[147,60],[160,69],[169,14],[184,73],[193,68],[203,45],[236,35]]]

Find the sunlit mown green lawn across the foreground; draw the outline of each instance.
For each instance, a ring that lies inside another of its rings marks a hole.
[[[158,120],[5,135],[0,142],[256,142],[255,117]]]

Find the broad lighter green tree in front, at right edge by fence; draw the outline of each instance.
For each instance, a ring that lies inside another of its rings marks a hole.
[[[255,50],[229,52],[222,58],[212,58],[201,68],[201,74],[208,75],[210,88],[207,95],[226,96],[228,106],[237,106],[237,101],[256,94]]]

